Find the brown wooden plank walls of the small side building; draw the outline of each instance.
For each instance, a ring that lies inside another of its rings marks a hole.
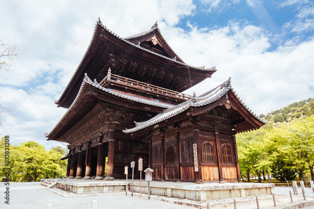
[[[189,121],[188,121],[189,122]],[[162,179],[165,180],[176,180],[176,164],[165,164],[165,151],[169,145],[173,145],[176,149],[176,140],[175,135],[178,132],[178,141],[179,141],[179,163],[180,163],[180,179],[181,180],[196,180],[194,175],[194,157],[193,157],[193,130],[187,121],[183,122],[181,128],[174,129],[172,126],[166,128],[165,133],[155,132],[155,135],[152,137],[151,144],[151,160],[152,160],[152,169],[153,179]],[[222,145],[227,144],[231,148],[233,147],[233,140],[231,138],[232,132],[227,124],[219,124],[218,127],[219,133],[219,147],[221,149]],[[199,127],[199,139],[200,146],[204,142],[210,142],[213,145],[214,149],[214,163],[201,163],[201,171],[202,178],[204,181],[219,181],[219,173],[218,173],[218,156],[217,156],[217,147],[216,147],[216,139],[214,135],[215,127],[209,121],[201,121]],[[161,153],[162,147],[162,138],[163,138],[163,150],[164,153]],[[201,149],[202,150],[202,147]],[[232,164],[224,164],[222,163],[223,170],[223,179],[226,181],[237,180],[236,175],[236,161],[234,150],[232,150],[233,163]],[[162,157],[164,156],[164,162],[162,162]],[[202,156],[202,154],[201,154]],[[198,159],[199,162],[202,159]],[[161,167],[164,165],[164,177],[162,177]]]

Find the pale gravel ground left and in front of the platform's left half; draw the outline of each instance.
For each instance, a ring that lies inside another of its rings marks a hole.
[[[4,191],[4,182],[0,183],[1,191]],[[37,188],[35,188],[37,187]],[[46,204],[52,204],[54,209],[89,209],[92,200],[98,201],[98,208],[192,208],[181,206],[159,200],[140,199],[136,196],[126,196],[125,193],[107,193],[96,196],[76,196],[76,197],[63,197],[49,191],[43,186],[36,186],[31,182],[14,183],[10,182],[10,205],[4,203],[4,198],[1,198],[0,208],[12,209],[44,209]],[[19,189],[19,190],[14,190]],[[2,193],[2,192],[1,192]],[[3,194],[3,193],[2,193]],[[2,195],[3,196],[3,195]]]

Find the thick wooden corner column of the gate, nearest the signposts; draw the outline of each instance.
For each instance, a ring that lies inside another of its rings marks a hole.
[[[109,130],[109,145],[108,145],[108,164],[107,175],[105,180],[114,180],[113,167],[115,158],[115,142],[116,142],[116,126],[118,122],[106,122],[106,127]]]

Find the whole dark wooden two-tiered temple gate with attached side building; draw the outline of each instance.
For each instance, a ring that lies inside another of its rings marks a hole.
[[[230,79],[199,96],[182,93],[215,71],[181,60],[157,22],[122,38],[97,21],[55,102],[68,111],[46,134],[69,144],[67,177],[122,179],[124,167],[142,158],[143,170],[154,170],[153,180],[241,182],[235,134],[265,122],[237,97]]]

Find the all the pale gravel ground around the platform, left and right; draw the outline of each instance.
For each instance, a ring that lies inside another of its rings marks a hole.
[[[0,183],[1,193],[5,191],[4,182]],[[275,187],[276,194],[289,194],[292,191],[291,187]],[[303,196],[301,195],[301,189],[298,188],[299,195],[293,196],[294,202],[302,202]],[[3,194],[3,193],[2,193]],[[312,199],[314,196],[313,191],[306,189],[307,199]],[[52,204],[54,209],[77,209],[84,208],[89,209],[92,200],[98,201],[98,208],[190,208],[188,206],[181,206],[177,204],[172,204],[156,199],[147,200],[145,198],[140,199],[138,196],[126,196],[124,192],[122,193],[106,193],[98,194],[93,196],[73,196],[64,197],[59,194],[53,193],[45,189],[43,186],[34,185],[32,182],[15,183],[10,182],[10,205],[4,203],[4,194],[2,200],[0,201],[0,208],[13,208],[13,209],[36,209],[45,208],[46,204]],[[314,200],[314,199],[312,199]],[[149,205],[149,207],[147,207]],[[281,208],[282,206],[291,205],[290,197],[278,198],[277,205]],[[273,207],[272,200],[261,200],[261,208],[275,208]],[[222,208],[233,208],[233,206],[222,207]],[[257,208],[256,202],[246,204],[238,204],[238,209],[250,209]],[[307,209],[314,209],[313,206],[307,207]]]

